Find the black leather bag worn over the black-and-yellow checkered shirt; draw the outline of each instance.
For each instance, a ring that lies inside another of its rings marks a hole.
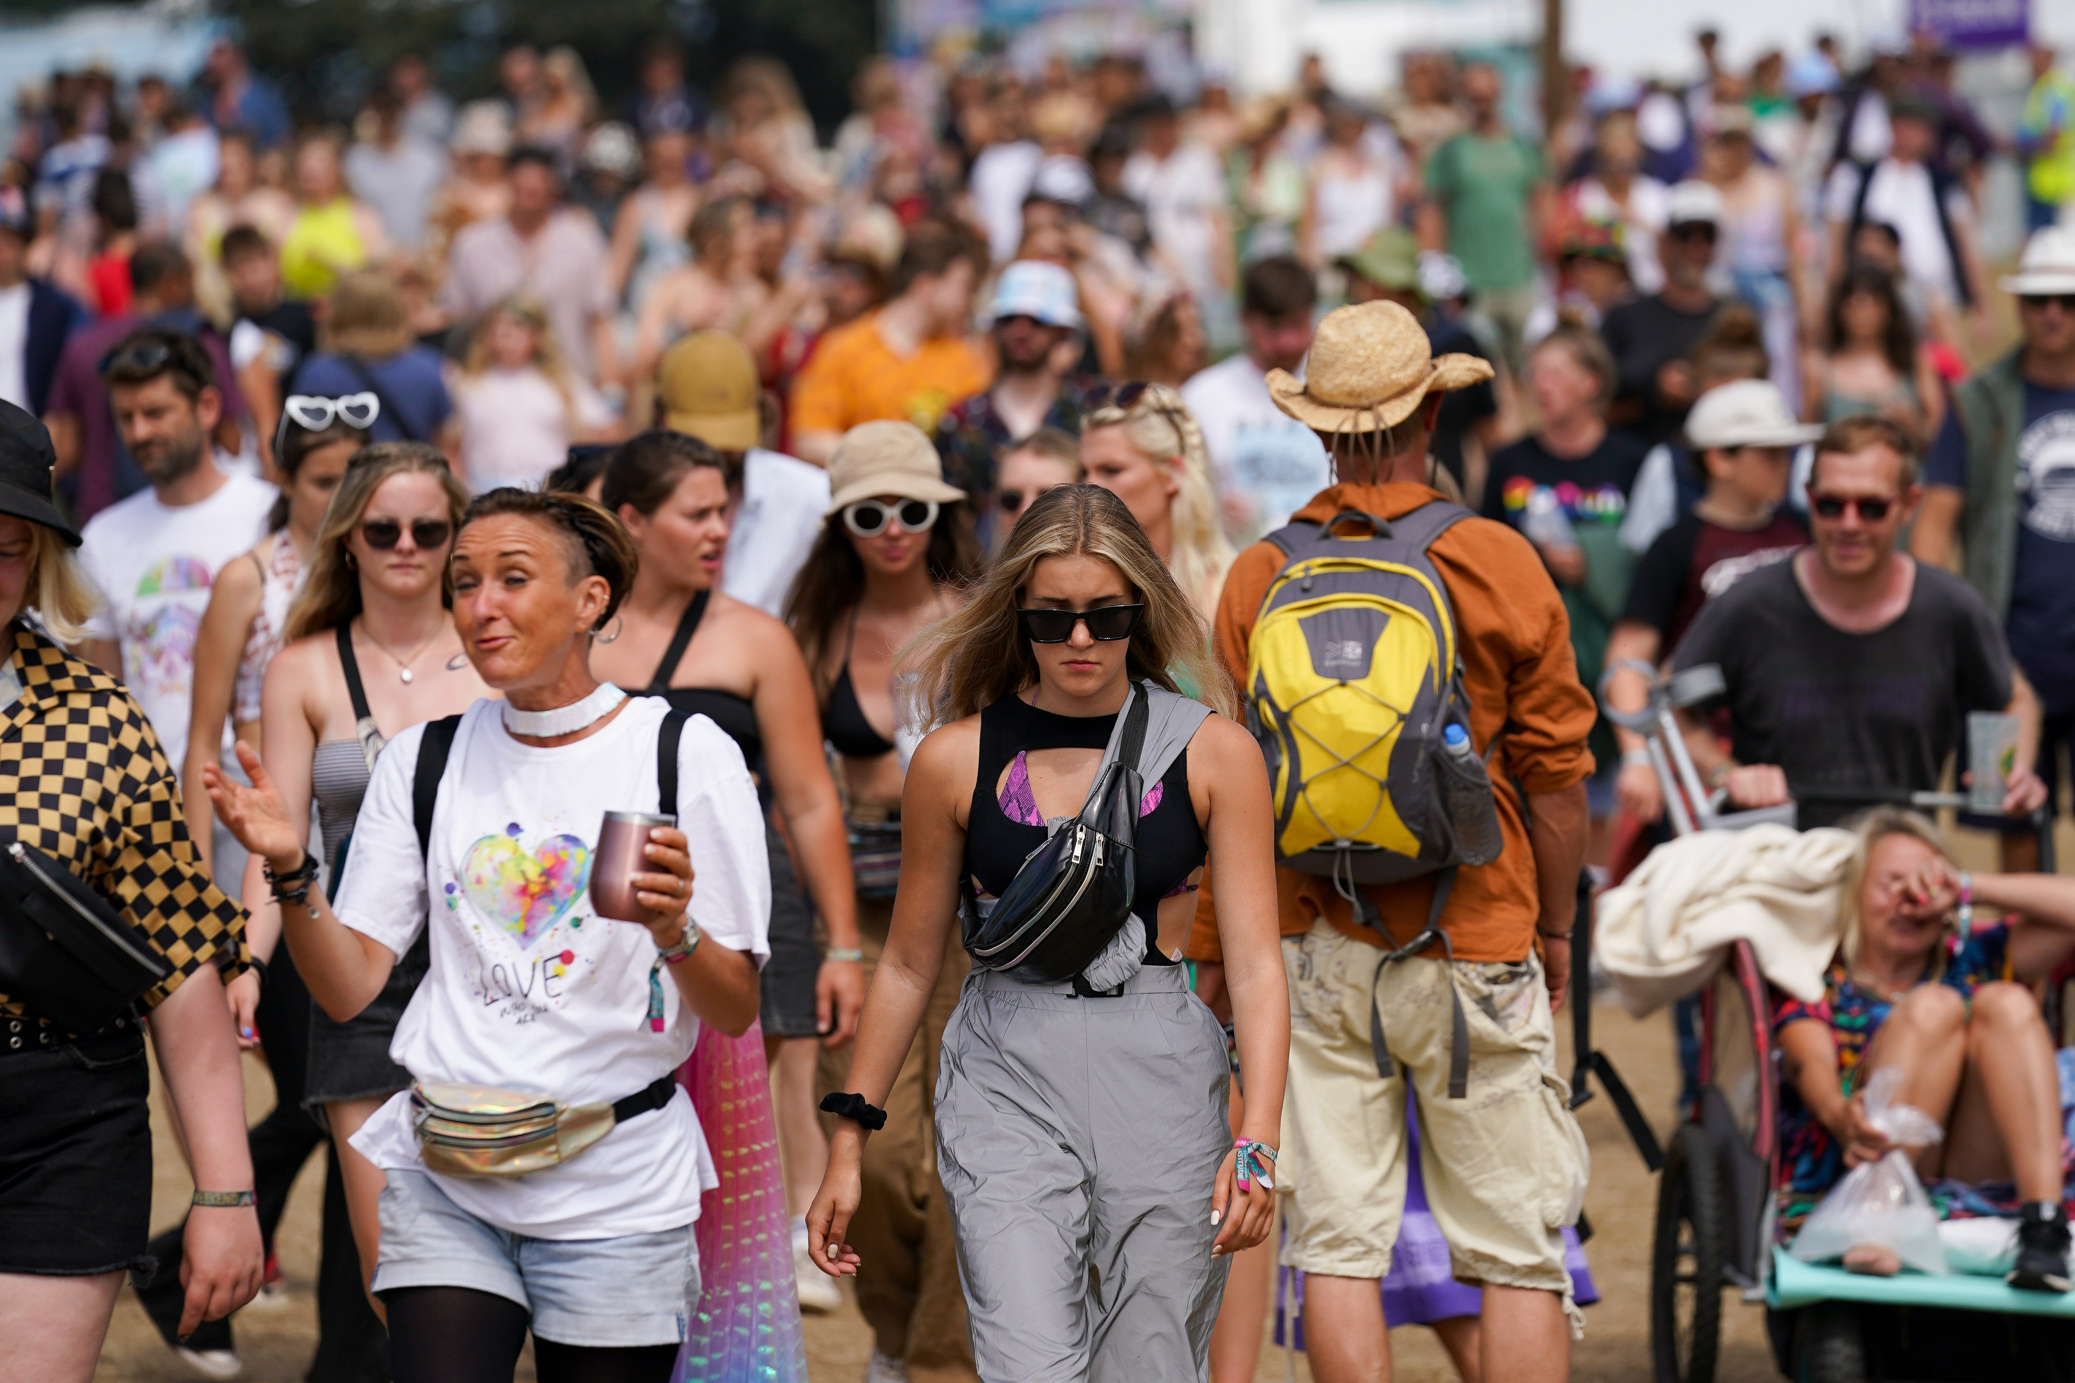
[[[35,846],[0,846],[0,991],[68,1033],[95,1033],[172,975],[93,887]]]

